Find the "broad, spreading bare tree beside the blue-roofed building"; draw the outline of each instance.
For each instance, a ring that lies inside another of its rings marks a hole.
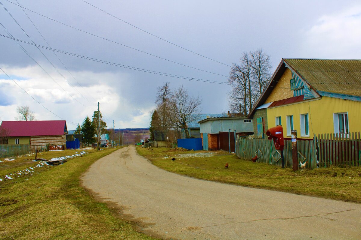
[[[188,91],[181,85],[173,91],[169,99],[168,117],[170,127],[179,130],[184,129],[186,138],[189,138],[188,123],[196,120],[196,113],[200,112],[202,100],[190,97]]]

